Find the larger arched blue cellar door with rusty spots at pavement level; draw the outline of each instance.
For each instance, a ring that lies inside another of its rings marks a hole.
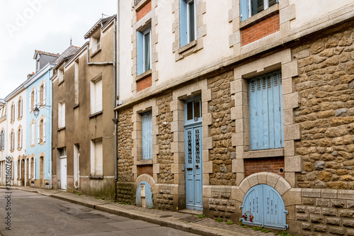
[[[247,191],[241,206],[243,223],[285,230],[286,214],[282,197],[271,186],[258,184]]]

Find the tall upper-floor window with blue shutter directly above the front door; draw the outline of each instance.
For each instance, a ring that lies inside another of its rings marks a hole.
[[[180,0],[181,47],[197,39],[196,13],[195,0]]]

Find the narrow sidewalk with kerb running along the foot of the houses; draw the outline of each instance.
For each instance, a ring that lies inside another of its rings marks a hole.
[[[2,188],[2,187],[1,187]],[[22,191],[30,191],[40,193],[45,196],[57,198],[63,201],[76,203],[96,210],[103,210],[108,213],[125,216],[135,220],[144,220],[149,223],[171,227],[176,230],[192,232],[198,235],[207,236],[249,236],[249,235],[273,235],[273,232],[260,232],[252,230],[251,227],[242,227],[238,224],[226,225],[226,223],[218,223],[210,218],[198,218],[189,213],[164,211],[156,209],[140,208],[132,205],[124,205],[96,199],[91,196],[77,195],[67,193],[65,191],[55,191],[49,189],[37,189],[29,187],[13,186],[11,189],[19,189]]]

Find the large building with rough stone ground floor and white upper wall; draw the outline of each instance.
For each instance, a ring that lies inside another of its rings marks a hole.
[[[354,235],[354,5],[246,2],[120,3],[118,201]]]

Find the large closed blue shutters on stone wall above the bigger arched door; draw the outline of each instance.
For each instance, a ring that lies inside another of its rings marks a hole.
[[[280,70],[249,81],[251,150],[284,147]]]

